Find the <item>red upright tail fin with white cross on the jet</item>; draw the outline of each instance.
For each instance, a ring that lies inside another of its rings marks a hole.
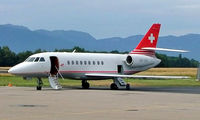
[[[130,52],[130,54],[143,54],[143,55],[155,55],[155,50],[144,50],[142,48],[150,47],[156,48],[158,35],[161,24],[153,24],[138,46]]]

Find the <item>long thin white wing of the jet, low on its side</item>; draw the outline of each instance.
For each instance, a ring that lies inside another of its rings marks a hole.
[[[121,75],[121,74],[102,74],[87,73],[88,77],[121,77],[121,78],[138,78],[138,79],[188,79],[188,76],[151,76],[151,75]]]

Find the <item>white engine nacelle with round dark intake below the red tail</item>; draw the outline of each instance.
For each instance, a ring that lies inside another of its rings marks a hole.
[[[149,65],[158,64],[160,61],[157,58],[153,58],[145,55],[128,55],[125,60],[126,64],[130,67],[145,67]]]

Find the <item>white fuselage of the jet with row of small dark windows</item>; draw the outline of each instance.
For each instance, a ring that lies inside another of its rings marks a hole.
[[[132,65],[126,62],[128,55],[133,58]],[[40,61],[42,57],[45,61]],[[31,58],[34,60],[31,61]],[[130,75],[152,68],[159,63],[160,60],[156,57],[137,54],[46,52],[30,56],[9,72],[24,77],[48,77],[59,72],[64,78],[99,80],[109,77],[87,77],[85,74]]]

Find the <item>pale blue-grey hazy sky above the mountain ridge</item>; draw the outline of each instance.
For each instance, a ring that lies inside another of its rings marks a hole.
[[[200,0],[0,0],[0,24],[88,32],[95,38],[200,33]]]

